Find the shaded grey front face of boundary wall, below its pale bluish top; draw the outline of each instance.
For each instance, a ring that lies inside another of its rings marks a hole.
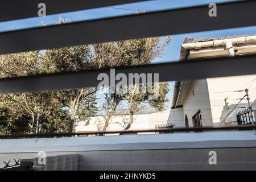
[[[209,151],[216,151],[217,165],[210,165]],[[77,154],[81,170],[159,171],[159,170],[256,170],[256,147],[251,148],[193,148],[175,150],[120,150],[63,152]],[[48,156],[59,155],[56,152]],[[4,155],[5,159],[31,158],[35,153]],[[37,156],[38,157],[38,156]],[[2,166],[3,167],[3,166]]]

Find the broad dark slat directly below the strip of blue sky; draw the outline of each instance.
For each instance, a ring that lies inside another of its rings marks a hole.
[[[217,17],[197,6],[3,32],[0,54],[253,26],[255,7],[256,1],[229,2],[217,5]]]

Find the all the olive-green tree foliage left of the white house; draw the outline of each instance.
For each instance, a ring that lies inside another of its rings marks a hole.
[[[57,24],[69,22],[70,20],[60,18]],[[155,57],[162,55],[169,42],[170,37],[144,38],[1,55],[0,77],[150,64]],[[109,90],[102,106],[105,123],[101,128],[108,128],[121,101],[129,102],[131,114],[139,110],[140,104],[146,102],[158,110],[163,110],[164,102],[167,101],[168,84],[160,85],[160,96],[154,101],[148,101],[148,95],[143,93],[115,94]],[[35,133],[37,114],[40,114],[40,132],[72,131],[77,121],[85,121],[97,115],[99,110],[96,106],[96,92],[96,88],[80,88],[1,95],[0,134]],[[38,103],[40,109],[37,113]]]

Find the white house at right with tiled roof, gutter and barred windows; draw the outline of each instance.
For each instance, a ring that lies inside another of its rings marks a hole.
[[[181,46],[180,61],[255,53],[255,35],[186,38]],[[232,64],[228,69],[232,69]],[[247,100],[241,101],[246,92],[234,92],[246,88],[255,113],[256,75],[176,81],[168,123],[174,123],[175,127],[219,126],[221,122],[221,126],[250,123]],[[234,107],[236,109],[232,111]],[[255,121],[255,117],[253,119]]]

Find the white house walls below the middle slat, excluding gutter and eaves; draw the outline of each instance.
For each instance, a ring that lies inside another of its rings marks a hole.
[[[187,115],[189,127],[193,127],[193,115],[201,111],[203,126],[218,126],[226,115],[245,96],[245,92],[231,92],[234,90],[249,89],[250,103],[256,110],[256,75],[232,76],[220,78],[207,78],[192,82],[192,86],[184,96],[183,107],[172,109],[168,122],[174,122],[175,126],[185,126],[185,115]],[[224,99],[228,97],[228,106]],[[247,100],[242,100],[236,109],[225,119],[224,125],[237,125],[237,113],[247,107]],[[229,108],[229,109],[228,109]],[[176,120],[176,121],[174,121]],[[177,122],[177,120],[179,122]],[[254,117],[255,121],[255,117]],[[223,126],[224,126],[223,125]]]

